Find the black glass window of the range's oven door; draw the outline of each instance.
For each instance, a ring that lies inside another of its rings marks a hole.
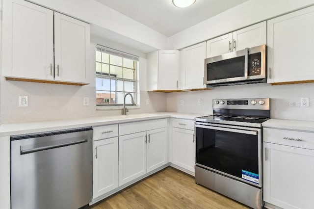
[[[225,130],[231,131],[196,127],[196,163],[240,179],[243,172],[259,179],[258,135]]]

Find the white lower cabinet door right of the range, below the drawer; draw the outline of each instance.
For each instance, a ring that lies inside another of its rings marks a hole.
[[[314,150],[263,145],[264,201],[284,209],[312,209]]]

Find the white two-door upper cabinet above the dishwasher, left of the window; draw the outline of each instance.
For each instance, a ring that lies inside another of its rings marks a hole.
[[[1,38],[6,79],[88,83],[89,24],[25,0],[5,0]]]

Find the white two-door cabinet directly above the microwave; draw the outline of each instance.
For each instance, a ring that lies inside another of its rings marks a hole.
[[[266,44],[266,22],[248,26],[207,41],[206,57]]]

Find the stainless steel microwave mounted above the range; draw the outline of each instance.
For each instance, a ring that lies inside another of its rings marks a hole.
[[[266,45],[205,59],[205,83],[211,86],[266,82]]]

